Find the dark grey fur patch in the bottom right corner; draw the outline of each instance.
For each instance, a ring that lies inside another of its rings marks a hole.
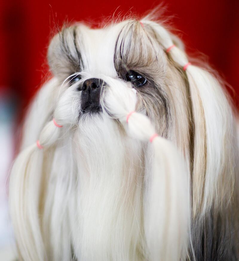
[[[238,260],[238,231],[232,211],[230,207],[221,211],[211,209],[192,223],[192,248],[197,261]],[[191,250],[190,258],[193,260]]]

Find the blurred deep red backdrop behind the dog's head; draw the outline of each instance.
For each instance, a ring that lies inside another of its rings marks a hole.
[[[0,2],[0,90],[10,90],[25,106],[46,79],[46,52],[56,24],[71,21],[97,22],[117,9],[140,14],[160,1],[60,1],[4,0]],[[191,51],[209,57],[239,94],[239,1],[168,0],[166,16],[179,29]],[[97,20],[98,19],[98,20]]]

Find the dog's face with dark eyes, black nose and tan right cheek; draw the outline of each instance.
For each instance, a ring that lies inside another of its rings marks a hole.
[[[104,112],[109,89],[118,88],[112,95],[118,100],[120,92],[125,102],[133,89],[136,111],[148,115],[160,135],[176,137],[177,143],[181,134],[175,130],[188,132],[188,124],[177,120],[189,114],[183,73],[169,61],[151,25],[131,20],[102,29],[65,28],[53,38],[48,60],[63,90],[74,93],[75,118]]]

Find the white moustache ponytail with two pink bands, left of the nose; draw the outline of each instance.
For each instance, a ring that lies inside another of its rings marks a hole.
[[[10,187],[18,197],[10,194],[9,207],[11,216],[18,216],[12,221],[23,260],[46,260],[39,222],[43,152],[63,136],[67,127],[76,124],[76,115],[69,106],[69,102],[74,106],[73,97],[71,90],[65,91],[56,105],[53,120],[42,129],[36,143],[20,152],[11,169]]]

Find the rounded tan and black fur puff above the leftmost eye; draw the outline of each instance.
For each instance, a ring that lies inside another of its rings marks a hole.
[[[77,30],[78,26],[63,28],[53,37],[48,48],[50,70],[61,79],[79,71],[81,67]]]

